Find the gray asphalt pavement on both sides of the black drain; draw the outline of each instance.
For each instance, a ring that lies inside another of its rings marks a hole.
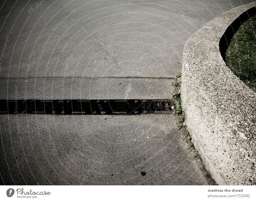
[[[249,2],[1,1],[0,98],[124,99],[128,87],[130,99],[171,99],[189,36]],[[0,182],[212,184],[178,123],[175,115],[1,115]]]

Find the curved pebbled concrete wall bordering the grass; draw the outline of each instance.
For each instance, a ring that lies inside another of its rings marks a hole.
[[[255,4],[213,19],[184,47],[181,98],[185,123],[219,185],[256,184],[256,93],[228,69],[219,51],[228,26]]]

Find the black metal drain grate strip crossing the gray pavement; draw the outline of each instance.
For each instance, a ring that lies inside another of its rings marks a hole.
[[[0,100],[0,114],[140,115],[171,113],[172,102],[129,100]]]

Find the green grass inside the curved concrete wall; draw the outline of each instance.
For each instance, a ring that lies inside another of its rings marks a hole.
[[[244,22],[231,39],[226,64],[256,92],[256,16]]]

